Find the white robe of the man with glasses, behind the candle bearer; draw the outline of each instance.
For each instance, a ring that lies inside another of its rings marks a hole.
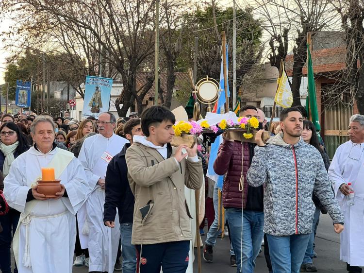
[[[99,178],[105,179],[107,165],[118,154],[128,140],[115,134],[106,138],[100,134],[87,137],[78,159],[86,172],[88,192],[86,202],[77,213],[81,247],[88,248],[90,255],[89,272],[113,272],[117,247],[120,239],[118,214],[115,228],[104,225],[103,213],[105,190],[99,187]],[[84,226],[87,225],[88,234]]]

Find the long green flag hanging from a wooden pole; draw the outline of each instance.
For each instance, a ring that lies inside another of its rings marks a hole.
[[[314,84],[314,68],[312,66],[310,44],[307,44],[307,78],[308,78],[308,98],[306,98],[306,109],[311,114],[311,120],[317,131],[321,130],[320,121],[318,119],[318,110],[316,102],[316,85]],[[309,103],[307,102],[309,101]],[[307,106],[309,105],[309,108]]]

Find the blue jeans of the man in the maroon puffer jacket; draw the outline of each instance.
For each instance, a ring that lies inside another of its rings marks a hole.
[[[264,213],[261,211],[226,208],[230,238],[236,256],[237,272],[253,273],[255,259],[263,240]]]

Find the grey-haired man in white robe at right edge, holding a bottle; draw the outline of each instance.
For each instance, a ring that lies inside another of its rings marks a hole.
[[[349,273],[361,273],[364,266],[364,116],[354,115],[349,123],[350,140],[337,148],[329,168],[329,176],[345,215],[341,234],[340,259]],[[350,187],[354,205],[348,205]]]

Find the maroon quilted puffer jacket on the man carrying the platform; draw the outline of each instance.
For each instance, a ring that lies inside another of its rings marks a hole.
[[[249,143],[244,142],[244,208],[247,205],[248,181],[247,172],[252,158]],[[219,147],[214,163],[214,171],[218,175],[224,175],[225,181],[222,190],[222,202],[224,207],[242,208],[242,192],[239,190],[242,170],[242,143],[239,141],[224,140]]]

